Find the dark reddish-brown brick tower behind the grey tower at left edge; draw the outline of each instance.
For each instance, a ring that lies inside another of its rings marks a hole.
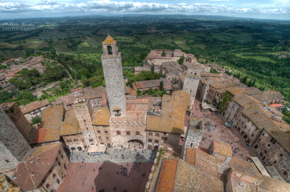
[[[6,112],[10,120],[14,123],[16,128],[22,134],[24,139],[29,142],[32,133],[32,128],[28,123],[27,119],[23,115],[19,106],[16,102],[3,103],[0,105],[2,109]]]

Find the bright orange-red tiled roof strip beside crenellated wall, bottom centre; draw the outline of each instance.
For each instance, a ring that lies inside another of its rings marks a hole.
[[[158,178],[156,192],[172,192],[178,160],[164,159]]]

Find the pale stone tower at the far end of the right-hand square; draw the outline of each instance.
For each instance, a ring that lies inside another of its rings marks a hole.
[[[184,75],[184,84],[182,90],[191,94],[190,97],[191,109],[193,107],[198,83],[200,81],[200,72],[201,72],[200,66],[191,65],[187,68],[186,75]]]

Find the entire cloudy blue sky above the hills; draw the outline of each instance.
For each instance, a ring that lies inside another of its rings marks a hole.
[[[0,19],[95,14],[221,15],[290,20],[290,0],[0,0]]]

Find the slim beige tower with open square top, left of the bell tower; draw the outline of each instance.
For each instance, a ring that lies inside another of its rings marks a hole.
[[[93,108],[88,97],[79,97],[75,100],[73,104],[73,109],[75,115],[77,116],[77,121],[81,127],[81,132],[83,133],[87,147],[98,145],[96,132],[93,121]]]

